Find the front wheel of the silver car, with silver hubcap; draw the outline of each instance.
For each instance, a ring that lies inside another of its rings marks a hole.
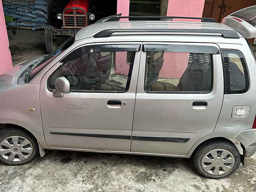
[[[4,128],[0,130],[0,162],[7,165],[23,165],[38,155],[36,139],[24,130]]]

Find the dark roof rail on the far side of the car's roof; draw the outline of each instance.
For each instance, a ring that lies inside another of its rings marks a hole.
[[[122,14],[122,13],[121,13]],[[108,22],[108,21],[119,21],[120,19],[123,18],[128,18],[128,19],[163,19],[163,20],[172,20],[172,19],[200,19],[202,22],[211,22],[211,23],[216,23],[216,20],[214,18],[203,18],[203,17],[175,17],[175,16],[124,16],[121,17],[121,14],[116,14],[112,15],[109,17],[105,17],[101,20],[98,20],[96,23],[100,22]]]

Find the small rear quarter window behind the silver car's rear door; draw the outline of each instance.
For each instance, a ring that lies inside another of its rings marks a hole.
[[[238,50],[222,50],[226,94],[244,93],[249,88],[244,56]]]

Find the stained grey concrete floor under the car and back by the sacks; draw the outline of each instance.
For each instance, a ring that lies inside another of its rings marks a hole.
[[[43,31],[9,33],[13,63],[46,54]],[[0,164],[0,192],[256,192],[256,155],[210,180],[190,159],[47,150],[23,166]]]

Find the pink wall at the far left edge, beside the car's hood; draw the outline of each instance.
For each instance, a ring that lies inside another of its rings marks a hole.
[[[2,1],[0,1],[0,74],[12,68],[12,57],[9,50],[9,41],[4,20]]]

